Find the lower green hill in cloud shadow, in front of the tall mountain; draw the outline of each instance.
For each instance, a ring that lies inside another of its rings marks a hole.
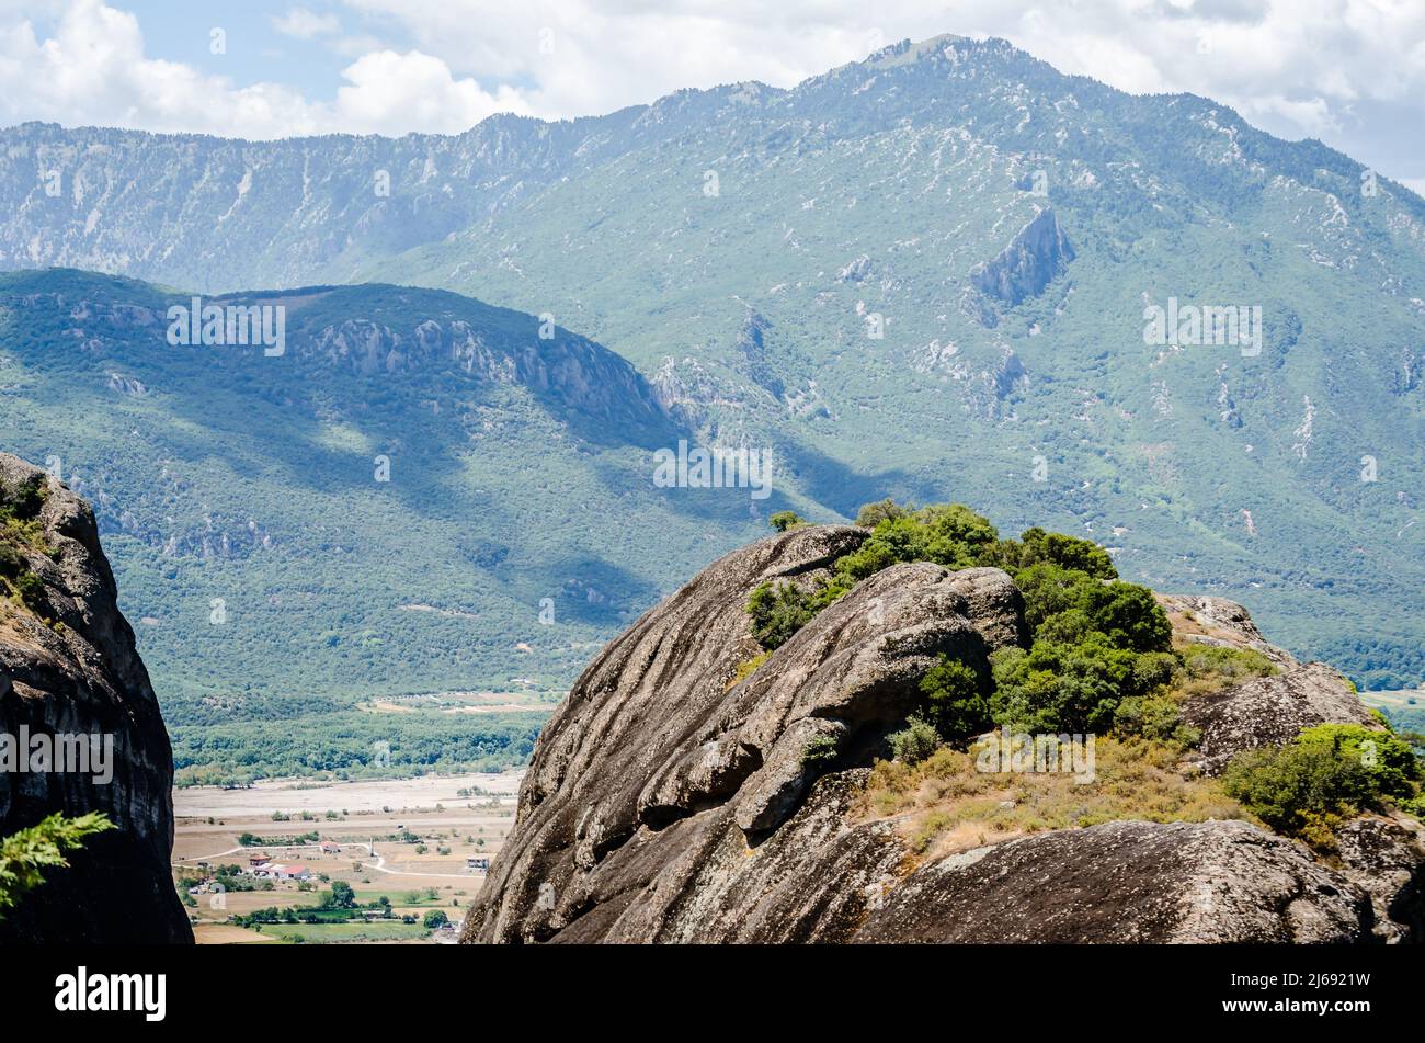
[[[382,740],[398,764],[519,761],[537,714],[353,707],[561,690],[781,502],[654,487],[677,422],[627,362],[542,339],[534,316],[393,286],[207,301],[281,303],[269,356],[170,343],[167,309],[188,303],[66,269],[0,276],[0,443],[93,502],[180,768],[234,748],[292,767],[298,732],[311,767],[365,764]],[[650,529],[660,554],[634,554]]]

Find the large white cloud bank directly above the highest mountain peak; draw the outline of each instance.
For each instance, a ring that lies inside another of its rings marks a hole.
[[[457,74],[530,84],[524,97],[547,117],[607,113],[681,87],[751,78],[791,87],[865,57],[874,33],[885,43],[1002,36],[1060,71],[1134,93],[1201,94],[1290,137],[1331,131],[1358,98],[1425,93],[1425,4],[1401,0],[346,4],[400,24]]]

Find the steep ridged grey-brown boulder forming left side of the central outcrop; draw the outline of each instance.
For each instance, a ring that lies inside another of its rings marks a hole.
[[[983,664],[1020,640],[1022,598],[1005,573],[905,564],[730,684],[757,653],[751,591],[807,581],[865,536],[805,527],[734,551],[594,660],[540,735],[467,940],[721,938],[688,902],[742,895],[731,916],[744,919],[758,893],[738,881],[754,853],[784,846],[765,842],[812,782],[901,725],[939,655]],[[731,876],[710,882],[712,865]]]

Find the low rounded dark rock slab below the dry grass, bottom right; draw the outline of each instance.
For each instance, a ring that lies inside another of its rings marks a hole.
[[[1371,901],[1245,822],[1106,822],[931,862],[856,942],[1364,942]]]

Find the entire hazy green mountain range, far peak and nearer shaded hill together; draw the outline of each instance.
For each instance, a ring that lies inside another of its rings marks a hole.
[[[886,494],[1425,680],[1425,201],[1207,98],[939,37],[457,135],[0,135],[0,437],[95,500],[161,691],[560,687],[768,512]],[[170,345],[192,294],[291,349]],[[774,496],[654,487],[683,439]]]

